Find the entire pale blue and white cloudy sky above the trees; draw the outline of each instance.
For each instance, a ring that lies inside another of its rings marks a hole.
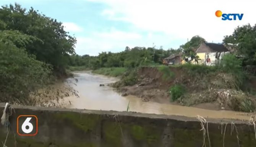
[[[178,48],[194,35],[221,43],[243,24],[256,24],[254,0],[1,0],[21,4],[63,22],[77,38],[76,53],[123,51],[126,46]],[[244,13],[222,21],[215,11]]]

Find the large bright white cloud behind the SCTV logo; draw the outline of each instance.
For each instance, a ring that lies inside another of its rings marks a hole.
[[[125,21],[147,32],[163,32],[176,38],[200,35],[207,41],[221,42],[238,25],[255,24],[254,1],[205,0],[108,0],[102,15],[114,21]],[[244,13],[241,21],[222,21],[215,11]],[[149,35],[150,36],[150,35]]]

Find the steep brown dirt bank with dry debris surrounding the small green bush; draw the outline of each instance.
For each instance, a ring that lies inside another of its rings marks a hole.
[[[255,108],[255,96],[237,89],[238,81],[231,74],[220,72],[188,71],[186,68],[169,67],[174,74],[166,79],[164,73],[156,67],[138,69],[138,81],[132,86],[117,88],[123,96],[135,95],[143,101],[172,103],[206,109],[226,109],[235,111],[251,111]],[[250,79],[250,84],[255,85]],[[181,84],[185,87],[183,95],[171,101],[170,87]],[[249,85],[249,84],[247,84]],[[251,86],[254,87],[254,86]]]

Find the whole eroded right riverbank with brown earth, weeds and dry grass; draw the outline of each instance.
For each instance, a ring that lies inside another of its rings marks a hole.
[[[249,92],[253,86],[248,84],[253,81],[246,79],[242,72],[232,73],[219,70],[219,67],[199,65],[166,67],[141,67],[137,71],[136,84],[118,86],[118,91],[145,101],[158,102],[162,98],[185,106],[217,103],[227,110],[253,112],[256,109],[256,98]],[[170,78],[166,77],[168,75]],[[178,89],[179,85],[185,90]]]

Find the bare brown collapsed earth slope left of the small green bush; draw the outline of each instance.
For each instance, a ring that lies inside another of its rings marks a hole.
[[[182,71],[172,68],[177,75],[172,80],[164,80],[156,67],[141,67],[138,70],[138,82],[133,86],[118,87],[118,92],[123,96],[136,95],[143,101],[156,101],[159,103],[170,103],[169,87],[182,78]]]

